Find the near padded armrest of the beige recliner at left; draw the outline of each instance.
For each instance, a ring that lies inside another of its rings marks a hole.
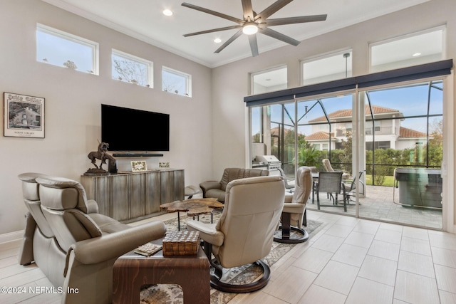
[[[93,239],[73,243],[68,249],[66,256],[65,275],[71,251],[73,251],[76,260],[80,263],[100,263],[122,256],[148,241],[161,239],[165,236],[165,232],[166,226],[162,221],[152,221],[113,234],[98,236]]]

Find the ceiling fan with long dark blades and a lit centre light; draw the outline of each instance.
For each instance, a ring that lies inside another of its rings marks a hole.
[[[223,28],[214,28],[207,31],[199,31],[195,33],[187,33],[184,37],[200,35],[202,33],[213,33],[217,31],[227,31],[231,29],[239,28],[239,31],[235,33],[231,38],[229,38],[222,46],[217,48],[214,53],[221,52],[224,48],[229,46],[234,40],[236,40],[242,33],[245,33],[249,37],[250,49],[252,51],[252,56],[258,56],[258,43],[257,43],[257,32],[262,33],[266,36],[279,39],[293,46],[297,46],[300,41],[295,40],[289,36],[286,36],[282,33],[272,30],[269,26],[282,26],[286,24],[294,23],[305,23],[305,22],[314,22],[314,21],[325,21],[327,15],[313,15],[313,16],[299,16],[299,17],[289,17],[289,18],[279,18],[279,19],[268,19],[269,16],[279,11],[279,9],[286,6],[293,0],[277,0],[266,9],[257,14],[252,9],[252,0],[241,0],[242,1],[242,11],[244,13],[243,19],[234,18],[217,11],[212,11],[210,9],[204,9],[203,7],[196,6],[193,4],[188,4],[186,2],[182,3],[182,6],[188,7],[189,9],[195,9],[197,11],[202,11],[207,14],[211,14],[229,21],[237,23],[235,26],[226,26]]]

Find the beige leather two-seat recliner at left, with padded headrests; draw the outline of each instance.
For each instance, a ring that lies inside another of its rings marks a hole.
[[[96,202],[71,179],[36,173],[19,178],[30,211],[19,263],[34,261],[54,286],[77,288],[63,293],[61,303],[110,303],[115,260],[165,235],[161,221],[131,227],[98,214]]]

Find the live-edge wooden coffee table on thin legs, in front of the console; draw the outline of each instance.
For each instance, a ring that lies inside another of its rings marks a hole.
[[[180,211],[186,211],[188,216],[199,216],[199,214],[211,214],[212,210],[223,208],[224,204],[214,198],[186,199],[185,201],[172,201],[160,205],[160,209],[167,212],[177,212],[177,229],[180,231]]]

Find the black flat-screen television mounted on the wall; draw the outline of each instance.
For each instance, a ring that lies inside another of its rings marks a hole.
[[[101,141],[110,151],[170,151],[170,115],[102,104]]]

